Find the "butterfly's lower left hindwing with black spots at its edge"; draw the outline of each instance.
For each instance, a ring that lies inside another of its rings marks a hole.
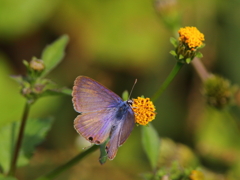
[[[74,128],[91,143],[102,144],[110,136],[115,114],[115,109],[83,113],[74,120]]]

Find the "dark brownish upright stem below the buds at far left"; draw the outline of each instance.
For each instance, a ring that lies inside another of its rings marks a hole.
[[[17,139],[17,143],[16,143],[16,146],[15,146],[15,149],[14,149],[13,156],[12,156],[10,170],[9,170],[9,173],[8,173],[11,176],[14,176],[14,174],[15,174],[15,170],[16,170],[16,166],[17,166],[17,159],[18,159],[19,151],[20,151],[20,148],[21,148],[21,145],[22,145],[24,129],[25,129],[25,126],[26,126],[26,121],[27,121],[27,117],[28,117],[28,114],[29,114],[29,110],[30,110],[30,103],[28,101],[26,101],[23,116],[22,116],[22,120],[21,120],[21,126],[20,126],[19,133],[18,133],[18,139]]]

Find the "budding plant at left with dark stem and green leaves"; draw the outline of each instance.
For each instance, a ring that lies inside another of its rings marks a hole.
[[[67,42],[68,37],[62,36],[43,51],[43,60],[33,57],[30,62],[23,61],[27,69],[26,76],[12,76],[21,86],[20,92],[26,98],[26,106],[21,124],[19,122],[10,123],[0,129],[2,137],[0,140],[2,145],[0,168],[4,174],[14,175],[16,167],[29,163],[35,147],[45,139],[53,124],[52,118],[29,119],[26,124],[30,106],[43,96],[71,94],[66,88],[56,89],[53,82],[43,78],[63,59]],[[5,179],[11,178],[6,177]]]

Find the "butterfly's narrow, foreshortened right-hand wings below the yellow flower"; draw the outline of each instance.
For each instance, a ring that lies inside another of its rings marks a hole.
[[[129,107],[126,116],[115,125],[110,135],[110,140],[106,145],[106,151],[110,160],[114,159],[118,147],[121,146],[131,134],[135,125],[135,116]]]

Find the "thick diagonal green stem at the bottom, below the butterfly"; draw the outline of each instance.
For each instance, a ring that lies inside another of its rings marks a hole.
[[[37,178],[36,180],[50,180],[50,179],[55,178],[60,173],[69,169],[70,167],[72,167],[73,165],[78,163],[82,158],[84,158],[85,156],[92,153],[93,151],[95,151],[98,148],[99,148],[99,146],[94,145],[93,147],[89,148],[88,150],[84,151],[83,153],[78,154],[77,156],[75,156],[73,159],[71,159],[67,163],[63,164],[62,166],[57,167],[53,171],[47,173],[44,176],[41,176],[41,177]]]

